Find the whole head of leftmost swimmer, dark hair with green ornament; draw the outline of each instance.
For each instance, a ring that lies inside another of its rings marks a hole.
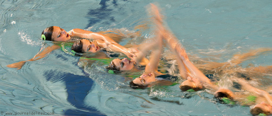
[[[45,40],[49,41],[66,41],[71,38],[64,29],[57,26],[45,28],[41,35],[43,34],[45,35]]]

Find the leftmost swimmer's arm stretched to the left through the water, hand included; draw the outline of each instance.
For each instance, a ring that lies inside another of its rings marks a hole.
[[[58,45],[49,46],[49,47],[45,48],[42,52],[39,52],[38,54],[36,54],[32,59],[12,63],[12,64],[7,65],[7,67],[17,68],[17,70],[19,70],[23,67],[23,65],[25,65],[25,62],[41,59],[41,58],[47,56],[48,53],[52,52],[53,50],[59,49],[59,48],[60,47]]]

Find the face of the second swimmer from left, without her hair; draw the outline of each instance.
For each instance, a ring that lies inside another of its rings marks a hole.
[[[82,42],[82,52],[92,52],[95,53],[100,50],[100,47],[95,45],[93,42],[90,42],[89,40],[82,39],[80,40]]]

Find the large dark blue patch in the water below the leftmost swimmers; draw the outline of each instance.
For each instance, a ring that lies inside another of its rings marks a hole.
[[[87,76],[74,75],[67,72],[49,70],[44,76],[47,81],[64,81],[67,89],[67,100],[79,110],[69,109],[65,115],[92,115],[101,116],[101,112],[95,108],[85,107],[84,98],[93,86],[93,80]],[[82,111],[84,110],[84,111]],[[87,112],[85,112],[87,111]]]

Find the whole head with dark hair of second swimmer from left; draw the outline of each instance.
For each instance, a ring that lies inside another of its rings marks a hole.
[[[86,52],[95,53],[100,50],[100,47],[98,47],[97,45],[95,45],[93,42],[89,40],[81,39],[79,41],[76,41],[73,44],[71,49],[78,53],[86,53]]]

